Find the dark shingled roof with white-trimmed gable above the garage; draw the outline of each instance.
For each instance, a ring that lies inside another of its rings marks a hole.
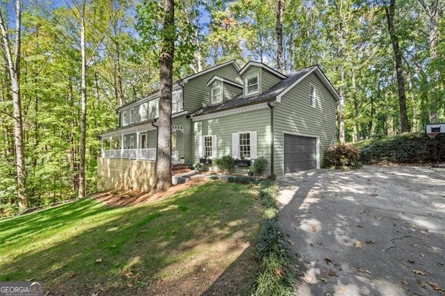
[[[275,99],[277,101],[281,101],[282,96],[286,94],[286,92],[289,92],[289,90],[294,88],[298,83],[300,83],[300,81],[305,79],[305,77],[307,77],[309,74],[313,72],[315,72],[318,78],[321,79],[326,88],[330,90],[332,96],[334,96],[336,100],[339,100],[340,96],[337,93],[337,91],[334,89],[330,81],[327,80],[325,74],[323,74],[320,67],[318,67],[318,65],[315,65],[289,74],[286,79],[283,79],[279,83],[273,85],[273,87],[266,90],[266,92],[258,94],[257,96],[246,98],[243,96],[243,94],[240,94],[234,99],[225,101],[221,104],[206,106],[204,108],[201,108],[200,110],[197,110],[196,112],[192,113],[190,116],[194,117],[198,115],[204,115],[207,113],[218,112],[221,110],[237,108],[245,105],[258,104],[266,101],[273,101]]]

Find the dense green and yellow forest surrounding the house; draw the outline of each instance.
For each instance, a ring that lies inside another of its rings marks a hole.
[[[340,142],[422,131],[428,122],[445,121],[439,1],[177,0],[174,80],[232,59],[241,66],[266,63],[284,74],[318,64],[343,97]],[[1,215],[77,197],[82,142],[84,193],[95,192],[97,135],[118,126],[116,108],[159,88],[159,32],[147,21],[161,23],[161,1],[21,4],[17,22],[15,3],[0,2]],[[9,67],[17,61],[17,36],[20,118]]]

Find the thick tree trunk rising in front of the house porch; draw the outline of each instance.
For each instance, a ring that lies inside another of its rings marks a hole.
[[[159,120],[156,184],[162,192],[172,186],[172,86],[175,52],[175,4],[164,0],[163,41],[159,56]]]

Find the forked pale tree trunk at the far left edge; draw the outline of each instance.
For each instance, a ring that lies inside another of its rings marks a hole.
[[[20,98],[20,55],[21,55],[21,26],[22,26],[22,3],[15,1],[15,49],[12,53],[12,44],[8,36],[8,26],[3,22],[3,15],[0,11],[0,27],[5,50],[6,61],[11,79],[11,90],[13,91],[14,106],[14,135],[15,135],[15,156],[17,163],[17,197],[20,208],[26,208],[28,201],[25,195],[25,161],[23,145],[23,122],[22,122],[22,101]],[[14,60],[15,58],[15,60]]]

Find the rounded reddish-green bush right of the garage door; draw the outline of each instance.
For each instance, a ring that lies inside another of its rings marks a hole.
[[[325,167],[360,167],[359,149],[350,145],[332,145],[325,154]]]

